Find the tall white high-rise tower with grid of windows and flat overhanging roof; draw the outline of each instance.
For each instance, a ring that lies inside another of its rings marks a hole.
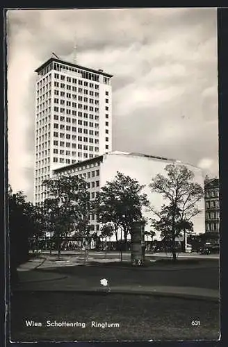
[[[34,203],[52,171],[112,151],[113,75],[50,58],[35,70]]]

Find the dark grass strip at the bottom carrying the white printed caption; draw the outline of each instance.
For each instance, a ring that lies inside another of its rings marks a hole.
[[[216,340],[219,304],[179,298],[75,292],[16,292],[11,303],[11,341]],[[26,327],[25,320],[42,327]],[[50,321],[86,323],[86,328],[48,328]],[[193,326],[193,320],[200,321]],[[91,321],[119,323],[92,328]]]

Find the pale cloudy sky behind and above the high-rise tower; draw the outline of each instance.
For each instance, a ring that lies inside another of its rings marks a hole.
[[[215,8],[10,10],[8,170],[33,196],[34,70],[51,57],[113,74],[113,149],[218,176]]]

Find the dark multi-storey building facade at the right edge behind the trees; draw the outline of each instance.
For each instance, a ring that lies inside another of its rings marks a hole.
[[[219,180],[206,177],[204,182],[205,229],[218,232],[220,228]]]

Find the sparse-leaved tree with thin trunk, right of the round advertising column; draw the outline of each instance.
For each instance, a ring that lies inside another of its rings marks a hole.
[[[165,171],[167,177],[156,175],[149,187],[152,192],[162,194],[168,205],[164,205],[160,212],[153,207],[150,210],[158,217],[158,221],[152,221],[154,228],[171,237],[172,257],[176,260],[175,238],[181,231],[193,230],[190,219],[201,212],[197,203],[204,192],[198,183],[193,182],[193,172],[184,165],[168,164]]]

